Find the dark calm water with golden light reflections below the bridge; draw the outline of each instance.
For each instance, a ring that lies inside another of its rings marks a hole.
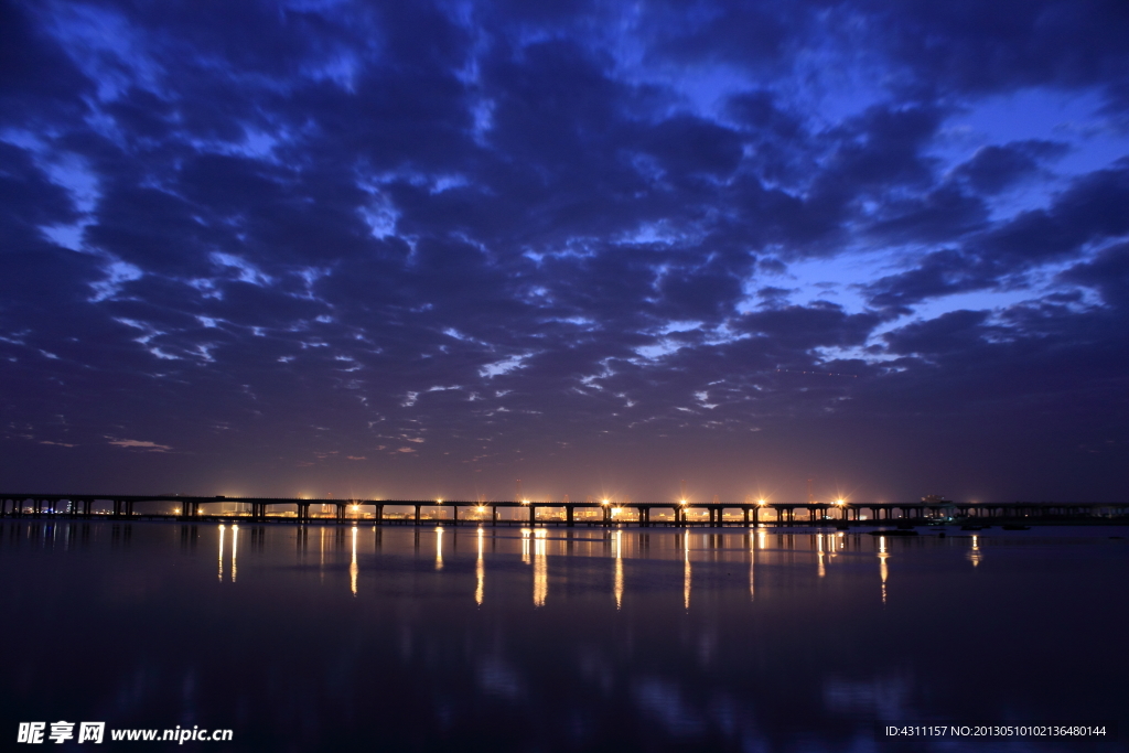
[[[0,747],[65,719],[227,751],[1123,751],[1124,535],[5,520]]]

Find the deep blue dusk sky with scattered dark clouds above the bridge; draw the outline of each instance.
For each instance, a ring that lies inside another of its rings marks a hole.
[[[0,8],[0,490],[1126,497],[1124,0]]]

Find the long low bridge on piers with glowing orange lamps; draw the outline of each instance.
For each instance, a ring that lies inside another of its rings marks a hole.
[[[285,499],[266,497],[181,497],[177,494],[10,494],[0,493],[2,516],[69,516],[91,517],[110,515],[129,518],[135,515],[155,515],[145,508],[154,504],[174,504],[178,519],[219,517],[201,510],[204,505],[238,505],[250,508],[250,514],[237,517],[252,520],[349,522],[362,517],[374,523],[404,523],[419,525],[423,520],[458,523],[543,523],[572,526],[584,525],[849,525],[861,520],[928,523],[930,520],[968,518],[979,520],[1078,520],[1095,518],[1123,518],[1129,516],[1129,502],[949,502],[947,500],[920,502],[567,502],[567,501],[489,501],[457,500],[392,500],[392,499]],[[94,508],[107,507],[106,513]],[[310,515],[310,506],[333,507],[327,517]],[[406,515],[395,515],[385,508],[409,508]],[[281,508],[287,508],[285,511]],[[351,508],[351,510],[350,510]],[[439,515],[425,517],[425,508]],[[505,519],[500,510],[518,508],[525,513]],[[292,511],[291,511],[292,509]],[[797,510],[800,513],[796,516]],[[350,516],[352,511],[355,515]],[[449,516],[447,513],[449,511]],[[655,515],[653,515],[653,513]],[[864,517],[863,514],[867,515]],[[228,517],[228,513],[222,517]],[[371,517],[369,517],[369,515]]]

